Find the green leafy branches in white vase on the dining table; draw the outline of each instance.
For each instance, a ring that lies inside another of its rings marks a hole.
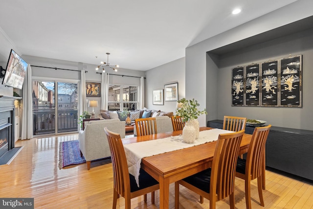
[[[186,129],[187,127],[190,127],[189,123],[192,123],[194,128],[195,128],[195,139],[199,138],[199,121],[197,120],[198,116],[207,114],[205,108],[204,110],[199,110],[198,107],[200,104],[198,103],[197,100],[192,99],[188,100],[186,98],[182,98],[178,100],[180,108],[176,109],[176,115],[180,116],[184,122],[186,122]],[[188,124],[187,124],[188,123]],[[184,127],[184,129],[185,129]],[[185,131],[186,132],[186,131]],[[191,131],[189,131],[191,132]],[[184,139],[185,138],[185,139]],[[183,130],[183,139],[184,141],[188,140],[186,139],[187,137],[184,137],[184,130]],[[190,138],[190,136],[189,136]]]

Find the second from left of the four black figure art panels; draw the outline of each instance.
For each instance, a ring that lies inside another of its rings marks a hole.
[[[246,106],[260,105],[260,64],[246,66]]]

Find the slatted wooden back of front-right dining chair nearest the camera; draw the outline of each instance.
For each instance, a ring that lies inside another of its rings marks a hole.
[[[234,193],[236,164],[245,130],[220,134],[212,162],[210,202],[222,200]],[[231,202],[231,201],[230,201]]]

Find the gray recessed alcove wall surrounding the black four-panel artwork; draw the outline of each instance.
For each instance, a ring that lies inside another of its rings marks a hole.
[[[274,126],[313,130],[313,29],[290,36],[250,46],[244,50],[221,56],[219,59],[218,117],[224,115],[245,116],[268,121]],[[231,69],[237,66],[263,63],[291,55],[302,54],[302,108],[291,107],[232,107]],[[226,95],[226,96],[225,96]]]

